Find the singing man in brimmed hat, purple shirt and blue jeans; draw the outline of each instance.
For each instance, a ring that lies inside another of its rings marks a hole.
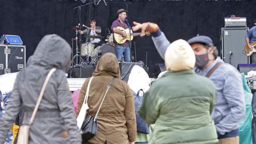
[[[127,34],[124,31],[119,30],[117,27],[122,27],[124,29],[129,28],[129,26],[127,26],[125,22],[127,17],[126,15],[127,12],[128,11],[124,9],[117,10],[116,12],[117,19],[113,21],[111,25],[111,30],[113,30],[114,33],[121,34],[122,37],[127,37]],[[122,60],[122,55],[124,55],[124,61],[126,62],[131,61],[130,47],[129,47],[128,41],[124,42],[123,44],[115,43],[115,53],[118,61]]]

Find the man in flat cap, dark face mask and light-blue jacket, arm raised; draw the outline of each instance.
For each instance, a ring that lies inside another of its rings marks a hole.
[[[149,30],[158,53],[163,59],[170,42],[156,23],[133,22],[133,30],[141,29],[141,36]],[[206,76],[215,85],[216,100],[211,117],[215,123],[219,144],[239,144],[238,128],[245,114],[242,77],[236,68],[218,57],[218,50],[208,36],[195,36],[188,40],[195,57],[195,72]]]

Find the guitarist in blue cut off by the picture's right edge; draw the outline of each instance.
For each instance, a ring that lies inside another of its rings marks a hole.
[[[254,52],[251,54],[251,58],[252,58],[252,63],[256,63],[256,53],[255,53],[255,48],[253,46],[255,45],[254,43],[256,42],[256,26],[248,30],[245,37],[245,41],[246,41],[245,52],[246,54],[248,53],[249,55],[252,52]]]

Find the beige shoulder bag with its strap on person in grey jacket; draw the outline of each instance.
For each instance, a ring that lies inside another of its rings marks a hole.
[[[49,73],[47,74],[47,76],[46,76],[46,79],[44,81],[43,87],[42,87],[42,89],[41,89],[41,91],[39,93],[39,97],[37,99],[35,109],[33,110],[32,116],[31,116],[31,118],[29,120],[29,124],[22,124],[22,126],[20,126],[19,135],[18,135],[18,141],[17,141],[18,144],[28,144],[30,125],[33,123],[34,118],[36,116],[36,112],[37,112],[38,107],[40,105],[40,102],[41,102],[41,100],[43,98],[45,87],[46,87],[47,83],[49,82],[49,79],[50,79],[51,75],[54,73],[55,70],[57,70],[57,69],[56,68],[52,68],[49,71]],[[23,119],[23,123],[24,122],[25,122],[25,118]]]

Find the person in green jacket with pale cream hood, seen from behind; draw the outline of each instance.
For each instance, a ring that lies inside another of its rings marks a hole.
[[[165,52],[167,72],[145,93],[140,116],[155,124],[149,143],[215,143],[215,87],[195,74],[195,54],[183,39]]]

